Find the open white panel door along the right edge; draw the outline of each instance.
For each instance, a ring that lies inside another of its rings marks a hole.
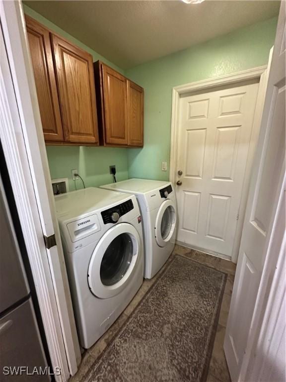
[[[240,370],[285,174],[285,38],[282,1],[224,339],[232,381],[244,381]]]

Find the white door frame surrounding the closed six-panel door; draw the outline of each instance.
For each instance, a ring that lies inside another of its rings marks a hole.
[[[272,54],[272,51],[270,52],[269,63],[271,62],[271,54]],[[240,200],[240,206],[239,206],[239,213],[238,213],[239,219],[236,226],[234,245],[233,245],[233,250],[231,254],[231,261],[233,263],[237,262],[237,257],[238,257],[239,244],[240,244],[242,226],[243,226],[243,220],[244,220],[244,213],[245,213],[246,202],[247,202],[249,180],[251,175],[251,166],[252,166],[256,143],[257,143],[258,135],[259,135],[260,122],[262,117],[263,104],[264,104],[266,86],[268,81],[269,67],[270,65],[268,64],[268,65],[260,66],[253,69],[247,69],[245,71],[233,73],[226,76],[221,76],[221,77],[216,77],[216,78],[207,79],[203,81],[193,82],[186,85],[176,86],[173,88],[173,93],[172,93],[171,151],[170,151],[169,179],[170,179],[170,182],[172,182],[173,185],[175,186],[176,181],[178,179],[177,177],[177,147],[178,147],[178,135],[179,135],[178,124],[179,124],[180,96],[186,93],[192,94],[194,92],[198,92],[202,90],[209,92],[210,90],[218,86],[225,86],[225,85],[231,85],[231,84],[238,85],[242,82],[247,82],[250,80],[255,80],[255,79],[259,80],[259,88],[258,88],[258,95],[257,95],[257,101],[256,101],[256,107],[255,107],[255,113],[254,113],[253,128],[251,133],[251,140],[250,140],[247,164],[245,169],[245,178],[243,182],[243,188],[242,188],[241,200]],[[182,244],[182,243],[178,242],[178,244]],[[211,252],[209,251],[209,253]]]

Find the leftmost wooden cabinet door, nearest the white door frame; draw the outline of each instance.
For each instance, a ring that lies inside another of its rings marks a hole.
[[[46,141],[62,141],[64,134],[50,33],[27,16],[26,26],[44,137]]]

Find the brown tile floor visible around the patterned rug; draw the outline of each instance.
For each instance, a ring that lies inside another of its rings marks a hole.
[[[235,274],[235,264],[230,261],[219,259],[217,257],[204,254],[202,252],[198,252],[195,250],[191,250],[189,248],[185,248],[179,245],[175,246],[173,254],[170,256],[168,262],[172,259],[174,254],[184,255],[190,257],[191,259],[201,263],[206,264],[209,267],[215,268],[219,271],[227,273],[227,281],[223,294],[223,299],[221,303],[220,315],[218,320],[218,326],[216,331],[216,336],[214,340],[214,349],[210,363],[209,375],[207,382],[230,382],[229,372],[227,369],[224,353],[223,353],[223,339],[225,335],[225,327],[227,322],[227,315],[229,310],[234,274]],[[128,316],[133,312],[135,307],[143,298],[144,294],[147,290],[154,284],[156,279],[159,277],[161,272],[163,272],[164,268],[168,264],[161,269],[160,272],[152,279],[152,280],[144,280],[143,285],[124,310],[124,312],[120,315],[120,317],[116,320],[116,322],[108,329],[108,331],[97,341],[93,347],[88,349],[82,356],[81,364],[79,365],[78,372],[75,376],[73,376],[70,382],[79,382],[88,368],[92,365],[92,363],[97,359],[97,357],[102,353],[102,351],[106,348],[106,346],[110,343],[113,336],[117,333],[119,328],[126,321]]]

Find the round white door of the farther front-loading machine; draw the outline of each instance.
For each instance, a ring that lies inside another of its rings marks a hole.
[[[165,247],[170,241],[176,226],[176,208],[172,200],[167,199],[157,213],[155,223],[155,238],[160,247]]]

